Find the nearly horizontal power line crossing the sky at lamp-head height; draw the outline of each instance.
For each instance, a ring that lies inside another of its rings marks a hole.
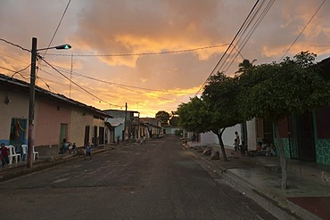
[[[204,46],[204,47],[197,47],[193,49],[184,49],[184,50],[177,50],[177,51],[165,51],[165,52],[151,52],[151,53],[120,53],[120,54],[74,54],[73,56],[80,56],[80,57],[116,57],[116,56],[143,56],[143,55],[159,55],[159,54],[168,54],[168,53],[187,53],[187,52],[194,52],[194,51],[200,51],[215,47],[222,47],[228,44],[224,45],[210,45],[210,46]],[[68,54],[58,54],[58,53],[48,53],[48,55],[52,56],[71,56]]]

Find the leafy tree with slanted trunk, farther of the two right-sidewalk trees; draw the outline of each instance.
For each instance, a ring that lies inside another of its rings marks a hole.
[[[227,155],[222,134],[228,126],[243,122],[243,118],[238,114],[236,102],[239,90],[237,83],[237,78],[218,73],[208,80],[201,99],[194,97],[177,109],[180,124],[184,128],[196,133],[211,131],[217,135],[225,161]]]

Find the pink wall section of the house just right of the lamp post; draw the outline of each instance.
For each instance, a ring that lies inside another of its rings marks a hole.
[[[61,124],[68,124],[68,132],[70,131],[70,112],[67,106],[59,102],[38,99],[35,115],[35,146],[59,144]]]

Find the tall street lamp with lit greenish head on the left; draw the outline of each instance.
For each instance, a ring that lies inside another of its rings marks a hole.
[[[37,52],[56,49],[56,50],[69,50],[70,45],[58,45],[42,49],[37,49],[37,37],[32,37],[32,50],[31,50],[31,73],[30,73],[30,84],[29,84],[29,136],[28,136],[28,168],[32,167],[33,163],[33,146],[35,143],[34,139],[34,126],[35,126],[35,91],[36,91],[36,61]]]

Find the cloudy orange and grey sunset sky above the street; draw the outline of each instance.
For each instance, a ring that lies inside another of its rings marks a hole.
[[[324,0],[0,0],[0,73],[24,69],[14,77],[29,82],[22,48],[32,37],[38,49],[69,44],[38,52],[46,62],[37,62],[37,86],[154,117],[201,94],[211,74],[234,76],[243,59],[259,65],[301,51],[326,59],[329,11]]]

